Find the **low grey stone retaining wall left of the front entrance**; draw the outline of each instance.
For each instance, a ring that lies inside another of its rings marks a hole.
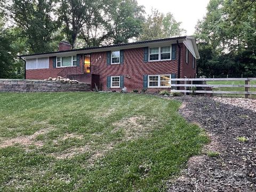
[[[41,80],[0,79],[0,92],[65,92],[90,91],[86,83],[64,83]]]

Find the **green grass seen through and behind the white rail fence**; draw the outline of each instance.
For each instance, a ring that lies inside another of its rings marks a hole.
[[[207,81],[207,84],[210,85],[244,85],[244,81]],[[250,81],[251,85],[256,85],[256,81]],[[245,91],[244,87],[216,87],[214,91]],[[256,91],[256,88],[250,88],[250,91]],[[225,96],[233,97],[244,97],[241,94],[224,94]],[[256,95],[252,95],[253,98],[256,98]]]

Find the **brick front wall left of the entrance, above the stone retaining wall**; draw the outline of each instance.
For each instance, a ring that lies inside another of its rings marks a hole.
[[[83,73],[83,57],[80,58],[79,67],[60,67],[53,68],[53,60],[49,58],[48,69],[27,69],[26,79],[46,79],[49,77],[62,76],[67,74],[82,74]]]

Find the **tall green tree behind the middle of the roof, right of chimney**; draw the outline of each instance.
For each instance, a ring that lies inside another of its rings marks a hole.
[[[145,18],[143,6],[137,1],[98,1],[96,7],[79,36],[86,46],[127,43],[140,35]]]

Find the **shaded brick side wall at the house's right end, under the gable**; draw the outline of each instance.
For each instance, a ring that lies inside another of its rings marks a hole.
[[[186,46],[182,43],[181,44],[181,73],[180,78],[194,78],[196,74],[196,59],[195,59],[195,68],[193,69],[192,66],[193,62],[193,55],[189,52],[188,63],[186,63]]]

